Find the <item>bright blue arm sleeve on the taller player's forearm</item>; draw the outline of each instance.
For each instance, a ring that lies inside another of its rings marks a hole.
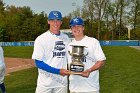
[[[44,63],[43,61],[35,59],[36,66],[42,70],[45,70],[50,73],[60,74],[60,69],[54,68],[49,66],[48,64]]]

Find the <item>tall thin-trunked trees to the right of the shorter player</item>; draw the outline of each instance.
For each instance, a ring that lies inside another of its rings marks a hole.
[[[100,40],[140,40],[140,0],[84,0],[82,7],[76,7],[70,16],[84,18],[89,36]]]

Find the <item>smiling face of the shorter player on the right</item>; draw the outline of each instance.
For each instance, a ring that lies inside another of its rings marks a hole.
[[[84,26],[82,25],[75,25],[71,27],[72,30],[72,34],[74,35],[74,37],[81,37],[83,36],[83,31],[84,31]]]

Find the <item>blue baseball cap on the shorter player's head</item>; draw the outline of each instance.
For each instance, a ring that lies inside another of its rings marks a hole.
[[[84,21],[83,21],[83,19],[80,18],[80,17],[75,17],[75,18],[71,19],[69,25],[70,25],[70,26],[84,25]]]

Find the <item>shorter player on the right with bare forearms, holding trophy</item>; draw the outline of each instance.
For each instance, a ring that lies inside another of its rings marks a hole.
[[[81,75],[71,74],[69,77],[69,89],[71,93],[99,93],[99,69],[104,65],[106,57],[101,49],[99,41],[84,35],[84,21],[75,17],[70,21],[70,27],[74,39],[68,45],[68,51],[72,51],[72,45],[85,46],[87,54],[83,59],[84,71]],[[69,63],[72,62],[68,54]]]

